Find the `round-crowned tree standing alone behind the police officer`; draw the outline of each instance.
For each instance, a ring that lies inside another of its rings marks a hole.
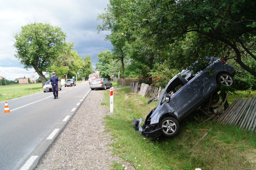
[[[60,27],[50,24],[30,23],[21,27],[14,34],[14,47],[17,57],[25,69],[34,68],[41,77],[42,84],[46,83],[43,72],[51,66],[59,54],[59,49],[65,41],[66,33]]]

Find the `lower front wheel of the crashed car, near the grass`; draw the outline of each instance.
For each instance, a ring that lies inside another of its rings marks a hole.
[[[163,127],[163,135],[169,137],[177,134],[180,129],[178,121],[172,117],[163,119],[160,123],[160,127]]]

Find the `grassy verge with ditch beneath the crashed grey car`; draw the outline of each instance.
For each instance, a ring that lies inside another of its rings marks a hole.
[[[162,136],[152,141],[136,134],[133,117],[145,119],[157,105],[146,104],[148,100],[130,88],[114,89],[114,113],[105,116],[106,130],[115,141],[111,143],[113,154],[133,163],[136,169],[256,169],[255,133],[210,121],[200,125],[203,116],[196,113],[184,119],[180,133],[171,138]],[[109,106],[108,91],[102,104]],[[113,167],[124,169],[118,163]]]

